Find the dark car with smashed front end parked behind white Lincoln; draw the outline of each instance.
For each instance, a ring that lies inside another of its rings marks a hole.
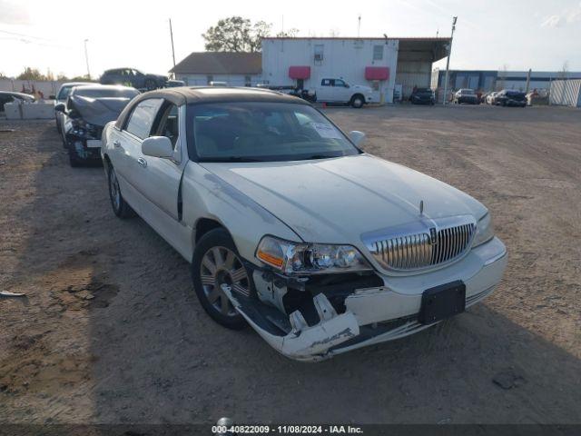
[[[63,144],[71,166],[101,159],[103,126],[116,120],[123,108],[139,94],[135,88],[120,85],[74,86],[66,104],[54,106],[63,116]]]

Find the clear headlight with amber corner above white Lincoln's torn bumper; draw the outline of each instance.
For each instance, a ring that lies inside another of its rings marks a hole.
[[[371,266],[351,245],[292,243],[264,236],[256,258],[285,274],[369,271]]]

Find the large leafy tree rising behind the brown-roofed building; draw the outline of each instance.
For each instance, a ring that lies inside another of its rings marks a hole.
[[[271,33],[270,24],[248,18],[230,16],[212,25],[202,38],[209,52],[260,52],[262,38]]]

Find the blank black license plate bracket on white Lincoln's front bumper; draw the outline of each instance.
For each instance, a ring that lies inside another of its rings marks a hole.
[[[433,324],[466,309],[466,284],[461,280],[429,288],[421,295],[418,321]]]

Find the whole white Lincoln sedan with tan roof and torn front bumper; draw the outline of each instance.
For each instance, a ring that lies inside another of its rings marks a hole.
[[[181,87],[134,98],[101,153],[113,212],[191,263],[214,321],[317,361],[465,311],[507,265],[485,206],[363,138],[289,95]]]

